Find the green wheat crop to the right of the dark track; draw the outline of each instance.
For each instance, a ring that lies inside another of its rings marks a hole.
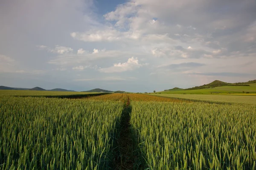
[[[253,170],[256,106],[131,102],[133,139],[150,170]]]

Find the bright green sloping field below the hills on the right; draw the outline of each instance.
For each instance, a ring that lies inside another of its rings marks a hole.
[[[244,92],[256,94],[256,83],[248,84],[250,86],[221,86],[215,88],[204,88],[198,90],[170,90],[160,91],[161,94],[241,94]]]

